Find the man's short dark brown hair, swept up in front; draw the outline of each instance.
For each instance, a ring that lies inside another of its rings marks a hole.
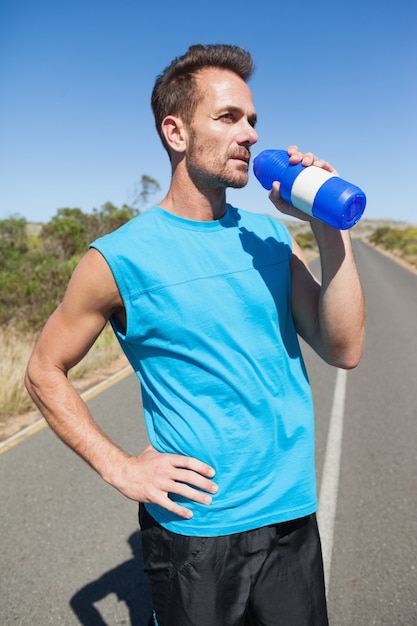
[[[168,146],[161,129],[162,121],[167,115],[177,115],[186,124],[191,123],[201,97],[195,75],[210,67],[234,72],[246,82],[253,73],[254,63],[249,52],[239,46],[197,44],[190,46],[184,55],[175,58],[165,68],[155,81],[151,105],[156,130],[168,154]]]

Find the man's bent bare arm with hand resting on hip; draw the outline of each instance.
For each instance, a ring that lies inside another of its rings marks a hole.
[[[162,454],[150,446],[138,457],[129,456],[102,432],[67,378],[122,306],[107,263],[90,250],[43,329],[27,367],[26,387],[56,434],[104,480],[133,500],[190,517],[168,493],[209,504],[208,494],[217,490],[209,480],[214,470],[197,459]]]

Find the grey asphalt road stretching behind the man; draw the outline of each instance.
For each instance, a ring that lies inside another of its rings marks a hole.
[[[329,612],[332,626],[412,626],[417,276],[362,242],[356,255],[368,309],[361,365],[341,376],[305,348],[318,482],[333,484],[320,507],[323,546],[333,545],[326,557]],[[345,393],[336,402],[335,388]],[[128,376],[89,401],[103,428],[132,453],[146,445],[138,391]],[[0,624],[146,626],[136,517],[136,504],[47,428],[0,454]]]

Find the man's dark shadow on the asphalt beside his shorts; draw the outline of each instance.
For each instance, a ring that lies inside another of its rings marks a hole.
[[[70,605],[80,624],[108,626],[100,611],[94,606],[110,594],[127,606],[131,626],[150,626],[152,608],[149,581],[143,571],[141,533],[129,537],[133,557],[113,570],[89,583],[71,598]],[[114,622],[113,622],[114,623]]]

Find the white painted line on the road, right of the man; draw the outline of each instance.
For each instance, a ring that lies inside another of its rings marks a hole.
[[[326,455],[321,479],[317,521],[320,528],[324,577],[329,588],[332,563],[333,536],[339,489],[340,459],[342,455],[343,419],[345,415],[347,371],[337,371],[333,406],[327,435]]]

